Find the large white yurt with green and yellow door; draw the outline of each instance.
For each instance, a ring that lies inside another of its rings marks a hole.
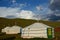
[[[54,28],[43,23],[34,23],[22,29],[22,38],[54,38]]]

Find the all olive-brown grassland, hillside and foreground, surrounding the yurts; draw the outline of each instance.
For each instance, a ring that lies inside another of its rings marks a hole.
[[[1,33],[1,29],[2,28],[5,28],[6,26],[13,26],[15,25],[18,25],[18,26],[21,26],[21,27],[26,27],[28,25],[31,25],[33,23],[37,22],[36,20],[26,20],[26,19],[6,19],[6,18],[0,18],[0,39],[10,39],[11,38],[14,38],[13,40],[55,40],[55,39],[44,39],[44,38],[32,38],[32,39],[23,39],[20,37],[20,34],[17,34],[17,35],[6,35],[6,34],[3,34]],[[60,27],[60,22],[52,22],[52,21],[42,21],[40,20],[39,21],[40,23],[44,23],[46,25],[49,25],[51,27]],[[60,32],[55,32],[55,36],[60,38]]]

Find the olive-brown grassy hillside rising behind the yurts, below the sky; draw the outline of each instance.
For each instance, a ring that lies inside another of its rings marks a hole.
[[[32,23],[37,22],[36,20],[30,20],[30,19],[6,19],[6,18],[0,18],[0,29],[4,28],[5,26],[13,26],[18,25],[21,27],[26,27],[28,25],[31,25]],[[40,23],[44,23],[46,25],[52,26],[52,27],[59,27],[60,22],[52,22],[52,21],[39,21]]]

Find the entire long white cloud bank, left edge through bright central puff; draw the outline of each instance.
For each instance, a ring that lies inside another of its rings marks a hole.
[[[19,8],[0,7],[0,17],[35,19],[34,16],[35,14],[32,11],[20,10]]]

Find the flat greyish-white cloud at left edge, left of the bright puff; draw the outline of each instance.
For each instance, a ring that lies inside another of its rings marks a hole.
[[[7,15],[17,15],[16,13],[19,11],[19,8],[0,7],[0,17],[6,17]]]

